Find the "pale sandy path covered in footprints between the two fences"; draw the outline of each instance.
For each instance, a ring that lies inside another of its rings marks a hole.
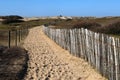
[[[40,26],[30,29],[23,46],[30,58],[25,80],[105,80],[87,62],[50,40]]]

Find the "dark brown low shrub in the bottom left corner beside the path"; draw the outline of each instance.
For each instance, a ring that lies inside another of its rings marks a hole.
[[[0,80],[22,80],[27,71],[27,61],[25,49],[0,46]]]

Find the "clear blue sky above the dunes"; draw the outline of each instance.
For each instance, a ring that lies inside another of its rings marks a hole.
[[[0,16],[120,16],[120,0],[0,0]]]

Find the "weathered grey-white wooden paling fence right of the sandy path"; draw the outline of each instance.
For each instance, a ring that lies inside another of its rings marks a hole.
[[[84,58],[109,80],[120,80],[120,39],[87,29],[52,29],[44,33],[72,55]]]

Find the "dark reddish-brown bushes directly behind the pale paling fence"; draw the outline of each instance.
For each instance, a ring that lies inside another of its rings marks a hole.
[[[73,28],[86,28],[92,30],[94,32],[105,33],[105,34],[113,34],[120,35],[120,22],[114,22],[111,24],[107,24],[102,26],[96,22],[79,22],[73,26]]]

